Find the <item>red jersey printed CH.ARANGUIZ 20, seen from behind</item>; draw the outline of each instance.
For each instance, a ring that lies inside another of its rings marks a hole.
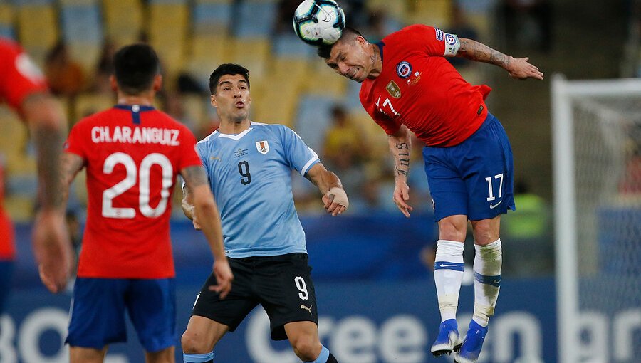
[[[66,152],[87,168],[81,278],[171,278],[171,200],[176,176],[202,165],[196,139],[153,107],[116,105],[80,120]]]

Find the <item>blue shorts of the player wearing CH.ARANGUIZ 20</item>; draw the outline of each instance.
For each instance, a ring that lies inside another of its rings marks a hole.
[[[111,343],[126,342],[125,309],[147,352],[176,344],[173,278],[78,278],[73,288],[66,343],[72,347],[103,349]]]

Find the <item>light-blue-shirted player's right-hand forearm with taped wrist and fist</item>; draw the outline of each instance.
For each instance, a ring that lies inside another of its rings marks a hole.
[[[325,211],[338,216],[348,209],[350,201],[347,194],[343,189],[343,184],[340,184],[340,179],[333,172],[325,169],[320,162],[307,172],[306,176],[314,185],[318,186],[318,190],[323,194],[323,206]]]

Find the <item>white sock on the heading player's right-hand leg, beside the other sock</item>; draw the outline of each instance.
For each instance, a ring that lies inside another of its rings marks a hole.
[[[501,238],[486,246],[474,245],[474,315],[472,320],[486,327],[494,315],[501,285]]]

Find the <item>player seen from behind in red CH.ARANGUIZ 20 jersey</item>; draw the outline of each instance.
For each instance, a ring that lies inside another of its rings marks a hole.
[[[127,339],[127,310],[145,361],[174,362],[170,214],[177,174],[193,191],[214,255],[217,284],[209,288],[225,296],[233,276],[194,135],[152,107],[162,84],[155,51],[125,46],[115,53],[114,68],[118,104],[74,125],[63,154],[62,194],[86,167],[89,195],[66,342],[72,363],[103,362],[109,344]]]

